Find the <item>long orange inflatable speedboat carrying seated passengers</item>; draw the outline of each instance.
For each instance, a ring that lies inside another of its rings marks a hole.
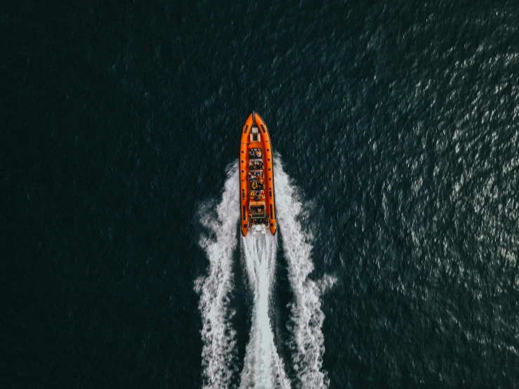
[[[272,145],[265,121],[254,111],[243,126],[239,147],[239,197],[243,236],[249,230],[265,234],[267,229],[275,235]]]

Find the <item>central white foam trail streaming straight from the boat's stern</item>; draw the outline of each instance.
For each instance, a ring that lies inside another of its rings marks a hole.
[[[254,293],[249,344],[245,352],[240,389],[290,388],[284,365],[277,354],[268,316],[275,273],[277,239],[269,233],[242,237],[249,284]]]

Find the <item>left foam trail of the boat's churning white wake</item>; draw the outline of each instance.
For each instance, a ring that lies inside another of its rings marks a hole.
[[[230,319],[230,291],[233,286],[232,255],[237,246],[239,220],[239,176],[237,161],[228,169],[222,201],[214,215],[210,203],[202,204],[199,217],[211,238],[202,237],[200,246],[209,259],[209,275],[195,282],[200,293],[202,314],[202,371],[204,389],[228,388],[237,363],[236,332]]]

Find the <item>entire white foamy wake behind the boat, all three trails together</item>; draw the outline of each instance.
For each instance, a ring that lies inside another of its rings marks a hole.
[[[322,289],[308,275],[313,270],[310,253],[312,236],[303,232],[298,222],[303,207],[294,187],[275,158],[275,196],[278,235],[239,235],[239,174],[237,162],[230,166],[216,214],[211,204],[199,210],[202,225],[209,235],[200,239],[200,246],[209,259],[209,274],[195,282],[200,294],[202,314],[202,369],[204,388],[230,388],[239,374],[239,388],[327,388],[322,372],[324,337],[320,294]],[[290,309],[292,330],[291,360],[283,361],[277,353],[269,317],[270,296],[274,284],[277,239],[282,235],[282,248],[287,259],[289,284],[294,294]],[[254,296],[251,330],[243,369],[236,371],[236,331],[231,319],[230,294],[235,277],[232,258],[241,237],[242,262],[246,266],[248,284]],[[291,363],[296,382],[290,383],[284,364]]]

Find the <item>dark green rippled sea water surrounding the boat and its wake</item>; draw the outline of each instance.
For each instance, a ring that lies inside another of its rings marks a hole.
[[[204,387],[200,212],[256,110],[336,279],[329,388],[519,388],[518,4],[280,4],[0,11],[2,386]]]

